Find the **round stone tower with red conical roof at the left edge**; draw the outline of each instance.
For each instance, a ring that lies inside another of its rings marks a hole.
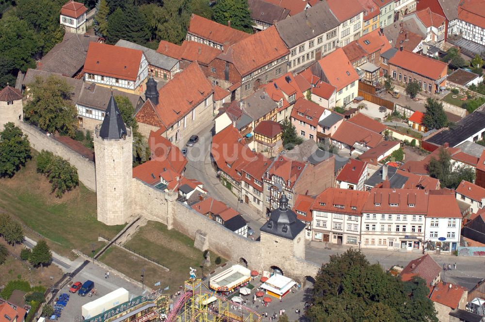
[[[24,117],[22,94],[12,86],[0,91],[0,131],[8,122],[18,125]]]

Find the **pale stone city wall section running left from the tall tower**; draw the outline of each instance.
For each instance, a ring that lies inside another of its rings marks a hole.
[[[78,169],[79,180],[88,188],[96,192],[96,171],[93,161],[83,158],[79,153],[47,136],[34,126],[26,123],[19,123],[20,129],[29,136],[31,146],[37,150],[47,150],[55,155],[61,156]]]

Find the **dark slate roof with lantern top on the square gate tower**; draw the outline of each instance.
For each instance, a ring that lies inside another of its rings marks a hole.
[[[271,211],[269,220],[260,228],[261,232],[289,240],[294,240],[303,229],[305,224],[288,208],[288,198],[285,194],[279,199],[279,208]]]

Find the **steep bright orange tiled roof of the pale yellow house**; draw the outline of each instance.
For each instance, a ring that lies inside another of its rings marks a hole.
[[[342,6],[342,8],[348,8],[348,6]],[[322,67],[328,82],[335,86],[337,91],[353,81],[359,80],[356,70],[347,56],[345,56],[345,52],[342,48],[335,49],[319,60],[318,63]]]

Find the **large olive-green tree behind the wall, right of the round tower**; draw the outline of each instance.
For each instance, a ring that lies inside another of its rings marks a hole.
[[[64,79],[50,75],[46,79],[36,77],[27,87],[25,120],[50,133],[58,131],[73,137],[78,111],[71,101],[72,86]]]

